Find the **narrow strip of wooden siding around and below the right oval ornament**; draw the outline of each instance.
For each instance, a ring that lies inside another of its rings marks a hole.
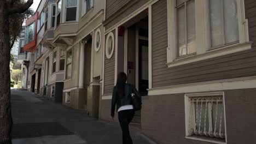
[[[115,39],[115,31],[112,31]],[[107,35],[105,37],[107,39]],[[115,42],[114,42],[115,43]],[[106,41],[105,41],[106,45]],[[114,87],[114,79],[115,79],[115,49],[113,55],[110,59],[106,57],[106,52],[104,52],[104,94],[112,94],[112,90]]]

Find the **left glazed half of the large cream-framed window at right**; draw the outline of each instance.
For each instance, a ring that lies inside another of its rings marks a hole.
[[[178,56],[196,52],[195,0],[176,0]]]

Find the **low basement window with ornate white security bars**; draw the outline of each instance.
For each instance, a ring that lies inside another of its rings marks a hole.
[[[187,136],[225,139],[223,95],[187,98]]]

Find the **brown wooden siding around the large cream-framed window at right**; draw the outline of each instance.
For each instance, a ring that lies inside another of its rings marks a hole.
[[[153,87],[256,75],[256,47],[231,55],[167,68],[167,1],[152,6]],[[250,41],[256,42],[256,2],[245,0]]]

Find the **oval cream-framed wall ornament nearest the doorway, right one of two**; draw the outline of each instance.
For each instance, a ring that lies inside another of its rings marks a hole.
[[[112,57],[114,52],[114,34],[110,32],[106,39],[106,57],[109,59]]]

